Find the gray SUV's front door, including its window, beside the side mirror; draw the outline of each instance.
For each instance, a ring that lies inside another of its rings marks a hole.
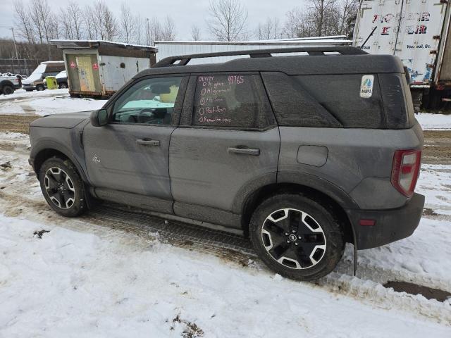
[[[108,125],[85,127],[87,173],[94,187],[172,199],[168,151],[185,82],[180,76],[135,82],[107,106]]]

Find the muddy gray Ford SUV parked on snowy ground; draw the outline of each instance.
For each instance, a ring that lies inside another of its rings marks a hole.
[[[61,215],[101,199],[235,228],[276,273],[314,280],[346,242],[355,268],[419,224],[408,82],[397,57],[346,46],[165,58],[90,116],[35,120],[30,164]]]

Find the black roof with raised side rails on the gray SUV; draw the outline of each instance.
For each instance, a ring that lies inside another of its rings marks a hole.
[[[309,55],[271,56],[271,53],[295,51],[305,51]],[[339,55],[328,55],[327,53],[331,51],[337,51]],[[223,63],[187,64],[192,58],[236,55],[249,55],[251,57],[236,58]],[[175,64],[176,61],[179,61],[178,65]],[[364,51],[350,46],[303,47],[173,56],[159,61],[152,68],[143,70],[135,75],[135,78],[147,75],[183,73],[264,71],[278,71],[288,75],[404,73],[404,65],[396,56],[366,54]]]

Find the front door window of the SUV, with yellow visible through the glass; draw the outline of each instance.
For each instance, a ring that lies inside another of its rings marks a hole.
[[[157,77],[132,85],[115,102],[111,120],[119,123],[171,125],[182,77]]]

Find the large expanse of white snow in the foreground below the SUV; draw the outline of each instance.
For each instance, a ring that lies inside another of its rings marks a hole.
[[[33,233],[40,230],[49,232],[39,239]],[[314,284],[125,232],[90,234],[0,216],[0,246],[4,337],[451,334]]]

